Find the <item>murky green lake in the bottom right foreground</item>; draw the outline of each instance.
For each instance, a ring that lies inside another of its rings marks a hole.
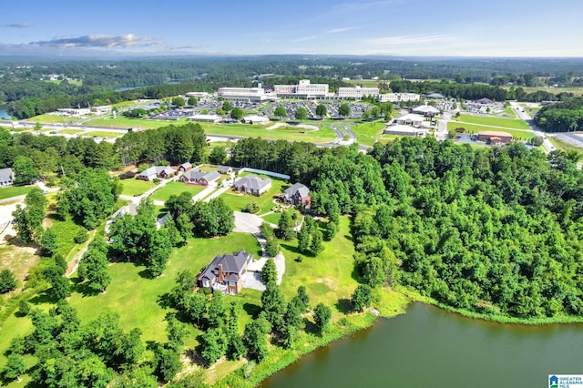
[[[547,387],[548,374],[583,373],[582,356],[583,324],[500,324],[415,303],[261,386]]]

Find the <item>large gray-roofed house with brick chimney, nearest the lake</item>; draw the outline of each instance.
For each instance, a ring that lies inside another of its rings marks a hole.
[[[197,278],[199,287],[237,295],[243,287],[247,266],[252,258],[251,253],[245,250],[215,257]]]

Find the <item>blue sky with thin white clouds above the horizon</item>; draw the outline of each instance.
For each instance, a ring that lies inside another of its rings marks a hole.
[[[27,0],[0,55],[583,56],[580,0]]]

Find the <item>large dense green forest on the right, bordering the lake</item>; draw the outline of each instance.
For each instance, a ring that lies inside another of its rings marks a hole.
[[[306,182],[316,215],[352,214],[356,260],[372,286],[519,318],[583,312],[577,152],[402,138],[369,154],[246,139],[232,162]]]

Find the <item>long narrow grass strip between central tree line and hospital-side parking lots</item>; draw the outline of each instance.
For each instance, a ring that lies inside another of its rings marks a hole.
[[[305,124],[313,125],[306,122]],[[259,126],[250,124],[206,124],[201,123],[202,128],[207,135],[233,136],[245,138],[267,138],[271,140],[293,140],[307,141],[312,143],[325,143],[336,138],[332,128],[323,126],[318,130],[306,128],[281,127],[267,129],[269,126]]]

